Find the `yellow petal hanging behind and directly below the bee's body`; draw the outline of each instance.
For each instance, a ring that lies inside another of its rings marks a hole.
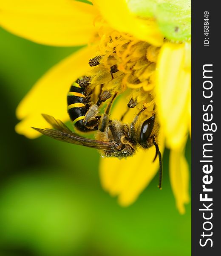
[[[120,119],[120,116],[127,108],[127,102],[124,98],[121,98],[117,102],[111,114],[112,119]],[[129,112],[129,115],[125,118],[125,122],[131,122],[134,112],[133,110]],[[159,138],[161,154],[164,150],[163,141],[163,136],[161,136]],[[153,163],[155,154],[156,149],[153,146],[147,150],[140,148],[133,157],[128,157],[127,159],[119,160],[114,157],[102,158],[99,170],[103,188],[111,195],[118,196],[119,204],[122,206],[132,204],[159,169],[158,159]]]

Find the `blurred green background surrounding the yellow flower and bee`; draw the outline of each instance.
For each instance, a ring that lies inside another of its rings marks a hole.
[[[15,109],[48,68],[75,48],[47,47],[0,29],[0,256],[190,256],[191,207],[180,215],[164,154],[155,177],[122,208],[99,182],[99,153],[14,131]],[[190,142],[186,150],[190,163]]]

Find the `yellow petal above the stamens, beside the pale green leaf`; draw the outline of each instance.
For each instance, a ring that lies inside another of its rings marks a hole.
[[[163,35],[156,23],[153,20],[134,17],[125,0],[94,0],[92,2],[113,29],[134,35],[155,46],[163,43]]]

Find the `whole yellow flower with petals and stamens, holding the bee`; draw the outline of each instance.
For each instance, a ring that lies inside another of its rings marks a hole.
[[[17,108],[21,122],[16,131],[29,138],[39,136],[30,127],[48,127],[41,113],[67,121],[66,94],[70,84],[88,74],[92,87],[104,84],[104,88],[126,95],[114,106],[112,119],[120,119],[131,96],[138,104],[125,116],[125,122],[131,122],[143,105],[147,116],[157,111],[161,127],[159,148],[162,153],[165,142],[171,149],[171,185],[178,210],[184,213],[184,204],[189,201],[184,148],[191,127],[190,43],[165,40],[153,17],[134,15],[124,0],[94,0],[93,4],[74,0],[0,0],[0,24],[11,33],[40,44],[87,45],[37,81]],[[102,59],[98,66],[90,67],[88,61],[96,55]],[[119,71],[111,77],[110,69],[115,64]],[[154,155],[152,147],[123,160],[102,158],[103,188],[118,196],[119,204],[132,204],[156,175],[159,163],[153,163]]]

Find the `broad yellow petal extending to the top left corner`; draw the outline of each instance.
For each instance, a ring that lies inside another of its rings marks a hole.
[[[39,44],[87,44],[95,34],[96,9],[72,0],[0,0],[0,25]]]

